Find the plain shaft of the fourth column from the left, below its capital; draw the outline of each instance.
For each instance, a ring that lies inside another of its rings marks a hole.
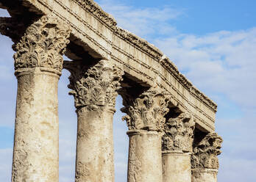
[[[163,182],[191,182],[191,155],[182,152],[163,153]]]

